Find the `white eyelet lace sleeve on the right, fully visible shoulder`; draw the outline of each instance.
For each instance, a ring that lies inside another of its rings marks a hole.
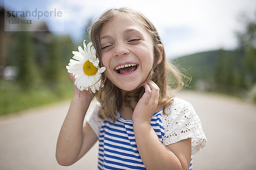
[[[166,108],[165,113],[163,115],[164,145],[192,138],[192,155],[205,147],[207,139],[203,132],[201,121],[189,102],[175,97],[172,105]]]

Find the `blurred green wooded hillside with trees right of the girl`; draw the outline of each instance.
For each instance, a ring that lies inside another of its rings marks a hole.
[[[256,14],[256,13],[255,13]],[[206,51],[177,59],[191,74],[191,86],[248,97],[256,102],[256,15],[243,18],[236,51]]]

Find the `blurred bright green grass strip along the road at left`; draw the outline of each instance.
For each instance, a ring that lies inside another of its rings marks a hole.
[[[45,85],[24,91],[13,82],[0,80],[0,116],[70,99],[72,96],[71,81],[55,85],[54,88]]]

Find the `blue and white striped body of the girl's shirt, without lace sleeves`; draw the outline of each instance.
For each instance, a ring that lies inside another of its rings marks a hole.
[[[163,141],[161,113],[154,113],[151,126]],[[145,170],[134,136],[132,120],[117,113],[115,123],[104,121],[99,132],[99,170]]]

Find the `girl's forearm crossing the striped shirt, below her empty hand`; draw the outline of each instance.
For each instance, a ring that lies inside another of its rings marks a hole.
[[[159,140],[147,122],[134,122],[136,144],[147,170],[182,170],[177,156]]]

